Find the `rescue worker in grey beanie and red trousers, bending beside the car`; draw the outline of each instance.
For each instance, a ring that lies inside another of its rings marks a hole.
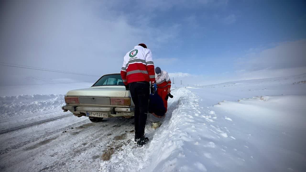
[[[157,75],[155,82],[157,84],[157,94],[162,98],[164,101],[164,106],[166,108],[168,107],[168,100],[166,99],[168,93],[171,92],[171,80],[168,75],[168,73],[164,70],[161,70],[159,67],[155,68],[155,73]]]

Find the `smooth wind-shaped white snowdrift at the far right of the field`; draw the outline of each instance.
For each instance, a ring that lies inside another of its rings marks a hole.
[[[266,127],[285,126],[306,129],[305,102],[305,95],[258,96],[220,102],[214,107],[227,111],[236,118],[243,118]],[[301,120],[303,118],[305,121]]]

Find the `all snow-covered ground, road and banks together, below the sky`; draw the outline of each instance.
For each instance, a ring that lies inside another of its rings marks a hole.
[[[1,171],[306,171],[306,74],[172,90],[162,126],[92,123],[63,95],[0,97]],[[62,92],[60,92],[62,94]]]

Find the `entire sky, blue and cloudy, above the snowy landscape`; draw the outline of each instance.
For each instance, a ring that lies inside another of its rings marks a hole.
[[[304,1],[1,2],[1,62],[103,75],[138,43],[185,83],[306,73]],[[2,66],[1,82],[96,80]],[[29,79],[29,78],[35,79]]]

